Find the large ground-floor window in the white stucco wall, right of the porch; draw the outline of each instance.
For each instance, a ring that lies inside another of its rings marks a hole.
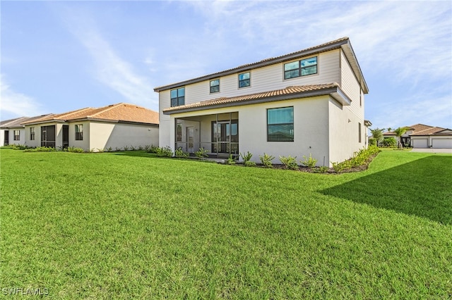
[[[294,142],[294,108],[267,109],[267,142]]]

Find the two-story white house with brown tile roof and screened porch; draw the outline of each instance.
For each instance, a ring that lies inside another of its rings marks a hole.
[[[366,146],[368,87],[347,37],[156,87],[160,146],[211,156],[311,154],[317,165]]]

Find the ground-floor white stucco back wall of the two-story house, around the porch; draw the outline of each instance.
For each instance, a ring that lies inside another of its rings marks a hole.
[[[206,115],[201,122],[201,142],[211,138],[211,121],[216,113],[238,113],[239,152],[253,154],[253,161],[260,162],[264,153],[275,156],[273,163],[280,163],[279,156],[311,156],[318,160],[317,165],[329,165],[328,154],[328,103],[329,96],[309,99],[275,101],[265,104],[218,108],[207,111],[173,114],[169,121],[169,144],[174,151],[174,118],[189,118]],[[293,106],[294,142],[267,142],[267,109]],[[162,130],[162,128],[160,128]],[[184,132],[185,127],[182,129]],[[163,134],[163,132],[160,132]],[[161,145],[162,146],[162,145]],[[203,145],[210,151],[208,144]]]

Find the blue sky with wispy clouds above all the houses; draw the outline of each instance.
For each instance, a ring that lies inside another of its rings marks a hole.
[[[119,102],[350,37],[373,127],[452,128],[452,1],[1,1],[1,120]]]

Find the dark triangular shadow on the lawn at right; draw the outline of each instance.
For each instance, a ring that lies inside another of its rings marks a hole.
[[[321,193],[452,224],[452,156],[427,156]]]

